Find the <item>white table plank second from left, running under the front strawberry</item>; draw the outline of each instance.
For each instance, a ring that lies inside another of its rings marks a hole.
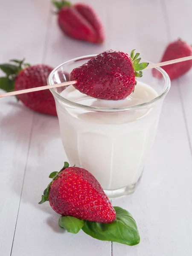
[[[84,1],[86,2],[86,1]],[[91,3],[90,3],[91,2]],[[105,22],[102,0],[88,1]],[[58,29],[53,15],[47,35],[44,62],[56,66],[65,60],[102,51],[97,46],[67,38]],[[58,227],[59,215],[48,203],[38,205],[49,182],[49,174],[61,169],[67,160],[61,143],[58,119],[35,115],[32,141],[20,201],[12,256],[111,256],[111,242],[92,239],[82,231],[73,235]]]

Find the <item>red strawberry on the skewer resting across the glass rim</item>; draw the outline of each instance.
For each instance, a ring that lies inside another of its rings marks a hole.
[[[94,98],[125,99],[134,91],[136,77],[142,76],[140,70],[148,66],[148,63],[139,63],[139,55],[134,56],[134,50],[131,56],[113,50],[102,52],[72,70],[70,79],[77,81],[74,84],[77,90]]]

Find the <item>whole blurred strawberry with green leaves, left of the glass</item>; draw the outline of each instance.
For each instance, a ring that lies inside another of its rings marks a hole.
[[[49,73],[53,70],[44,64],[24,64],[24,60],[11,60],[14,64],[0,64],[6,77],[0,77],[0,89],[7,92],[47,85]],[[17,99],[33,111],[56,116],[55,100],[49,90],[17,95]]]

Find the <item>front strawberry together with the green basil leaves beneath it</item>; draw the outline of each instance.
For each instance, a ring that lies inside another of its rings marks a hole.
[[[132,215],[121,207],[112,207],[98,181],[85,169],[69,167],[49,175],[52,181],[44,190],[41,202],[49,201],[61,214],[58,224],[67,232],[80,230],[95,239],[126,245],[140,242],[137,224]]]

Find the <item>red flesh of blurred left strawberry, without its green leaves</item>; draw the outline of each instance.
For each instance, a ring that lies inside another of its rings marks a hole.
[[[49,73],[53,70],[44,64],[27,67],[15,79],[15,90],[47,85]],[[17,96],[26,107],[33,111],[56,116],[55,100],[49,90],[25,93]]]

